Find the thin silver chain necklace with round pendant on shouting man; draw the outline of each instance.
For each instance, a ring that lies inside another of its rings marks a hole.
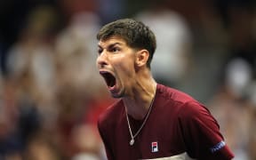
[[[129,127],[129,132],[131,134],[131,138],[132,140],[130,140],[130,146],[132,146],[134,144],[134,139],[135,137],[140,133],[141,129],[143,128],[143,126],[146,124],[147,120],[148,120],[148,116],[152,110],[152,106],[153,106],[153,103],[154,103],[154,100],[155,100],[155,96],[153,98],[153,100],[151,100],[151,103],[150,103],[150,106],[149,106],[149,109],[148,109],[148,113],[147,113],[147,116],[145,117],[143,123],[140,125],[140,128],[139,130],[134,134],[132,135],[132,128],[131,128],[131,124],[130,124],[130,121],[129,121],[129,117],[128,117],[128,114],[127,112],[125,111],[125,114],[126,114],[126,119],[127,119],[127,123],[128,123],[128,127]]]

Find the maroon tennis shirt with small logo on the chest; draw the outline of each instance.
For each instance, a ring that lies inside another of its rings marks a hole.
[[[144,119],[129,116],[129,120],[134,135]],[[148,120],[132,146],[123,100],[100,116],[98,127],[109,160],[234,157],[209,110],[188,94],[162,84],[157,84]]]

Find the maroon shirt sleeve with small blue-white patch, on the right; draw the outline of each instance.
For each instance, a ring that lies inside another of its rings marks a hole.
[[[230,160],[234,157],[210,111],[197,102],[186,103],[180,112],[188,155],[196,159]]]

